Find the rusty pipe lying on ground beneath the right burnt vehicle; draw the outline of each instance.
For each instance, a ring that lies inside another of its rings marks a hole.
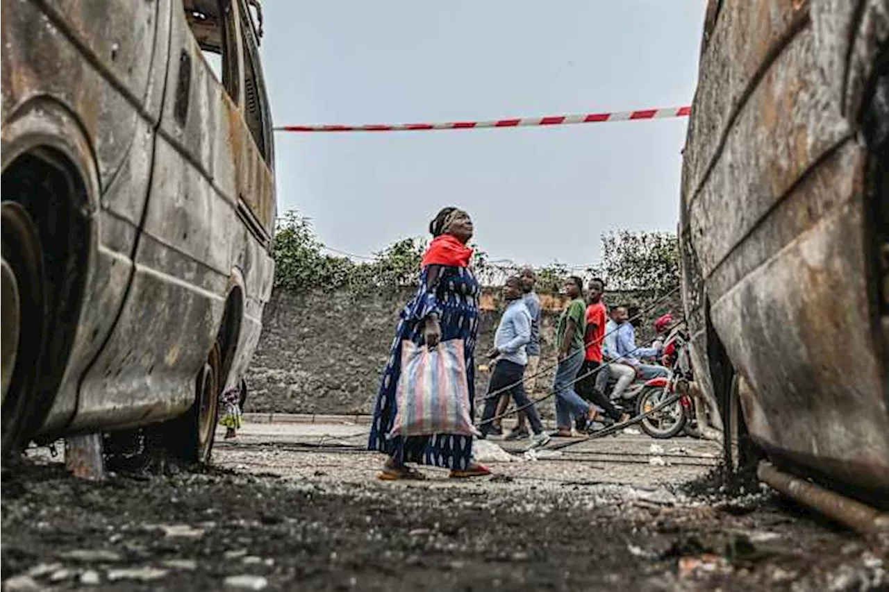
[[[757,477],[773,490],[821,512],[865,537],[885,539],[889,536],[889,514],[876,508],[788,475],[774,468],[767,460],[759,462]]]

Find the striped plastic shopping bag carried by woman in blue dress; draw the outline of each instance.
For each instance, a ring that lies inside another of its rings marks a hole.
[[[479,434],[469,415],[463,340],[443,341],[431,350],[403,341],[395,396],[397,411],[390,438]]]

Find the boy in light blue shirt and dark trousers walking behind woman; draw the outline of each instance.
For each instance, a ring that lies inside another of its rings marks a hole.
[[[494,347],[488,352],[488,357],[495,362],[488,383],[488,396],[485,397],[485,412],[482,413],[482,437],[500,431],[493,426],[493,418],[500,395],[506,393],[512,396],[519,409],[527,413],[534,431],[534,445],[541,446],[549,441],[549,435],[543,431],[541,418],[525,393],[525,365],[528,364],[525,348],[531,341],[531,313],[522,299],[520,277],[513,276],[506,281],[503,297],[507,301],[506,310],[494,334]]]

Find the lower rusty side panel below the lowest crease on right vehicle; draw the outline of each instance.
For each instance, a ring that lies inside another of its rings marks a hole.
[[[862,228],[861,200],[853,199],[734,286],[714,304],[713,319],[756,393],[751,434],[808,457],[813,468],[833,460],[843,480],[889,491],[889,419],[868,329]]]

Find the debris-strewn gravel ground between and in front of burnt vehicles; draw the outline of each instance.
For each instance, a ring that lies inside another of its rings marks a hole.
[[[477,481],[384,484],[377,455],[302,449],[329,432],[356,427],[251,426],[216,468],[174,476],[6,470],[4,590],[886,589],[881,550],[768,493],[686,494],[709,467],[666,462],[712,464],[713,444],[620,436]]]

